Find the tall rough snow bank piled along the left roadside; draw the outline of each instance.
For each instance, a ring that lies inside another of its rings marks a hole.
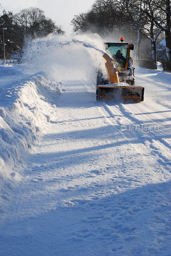
[[[15,67],[7,65],[6,71],[9,70],[16,74]],[[0,72],[4,74],[5,67],[1,66]],[[41,127],[49,122],[55,107],[53,103],[62,90],[60,83],[55,83],[43,72],[4,87],[1,83],[0,192],[1,197],[7,199],[12,181],[19,180],[24,168],[25,152],[38,139]]]

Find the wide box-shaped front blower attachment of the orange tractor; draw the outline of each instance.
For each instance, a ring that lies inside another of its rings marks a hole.
[[[115,86],[112,84],[98,85],[96,99],[123,99],[125,101],[140,102],[144,100],[144,87],[141,86]]]

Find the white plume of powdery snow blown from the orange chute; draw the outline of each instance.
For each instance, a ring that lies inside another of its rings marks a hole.
[[[22,61],[31,73],[44,71],[59,80],[96,80],[96,68],[105,52],[97,34],[65,37],[51,34],[27,42]]]

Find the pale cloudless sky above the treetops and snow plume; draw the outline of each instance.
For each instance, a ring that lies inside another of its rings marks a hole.
[[[42,9],[45,15],[56,21],[57,25],[62,25],[66,34],[70,34],[72,26],[70,25],[74,15],[86,12],[95,0],[1,0],[2,11],[19,12],[21,9],[35,6]]]

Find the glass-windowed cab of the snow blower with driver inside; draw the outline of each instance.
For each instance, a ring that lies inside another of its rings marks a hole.
[[[133,50],[134,45],[130,43],[104,43],[105,50],[109,53],[116,62],[119,71],[128,69],[128,60],[130,58],[130,50]]]

